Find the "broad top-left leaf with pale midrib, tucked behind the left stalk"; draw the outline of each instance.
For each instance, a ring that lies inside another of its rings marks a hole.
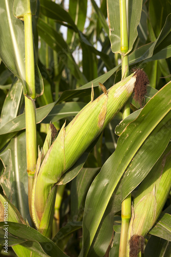
[[[0,7],[2,10],[0,57],[4,64],[21,81],[24,95],[26,95],[24,24],[13,15],[13,1],[1,1]],[[6,43],[4,44],[4,42]],[[43,92],[43,80],[38,66],[36,63],[34,65],[36,96],[39,96]]]

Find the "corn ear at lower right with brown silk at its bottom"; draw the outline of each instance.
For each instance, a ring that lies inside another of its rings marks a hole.
[[[155,225],[162,211],[171,189],[170,157],[171,144],[141,183],[132,207],[126,256],[141,256],[144,237]]]

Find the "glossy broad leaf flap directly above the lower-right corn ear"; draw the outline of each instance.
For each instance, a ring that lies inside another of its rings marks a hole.
[[[169,112],[156,126],[130,162],[118,188],[118,194],[122,195],[121,200],[139,185],[165,150],[170,139],[170,119],[171,113]],[[160,145],[160,150],[155,150],[157,145]],[[146,155],[142,155],[144,152]],[[127,176],[127,174],[129,175]],[[148,176],[150,177],[150,174]]]

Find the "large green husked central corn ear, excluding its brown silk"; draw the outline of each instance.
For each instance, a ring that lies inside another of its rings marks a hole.
[[[44,235],[50,236],[55,184],[124,106],[135,87],[136,74],[133,75],[108,90],[101,85],[104,94],[94,101],[92,97],[91,102],[66,127],[65,124],[62,126],[42,164],[39,154],[32,191],[32,216],[36,228]]]

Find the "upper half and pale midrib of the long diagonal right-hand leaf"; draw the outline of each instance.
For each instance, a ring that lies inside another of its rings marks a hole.
[[[155,127],[170,111],[171,104],[168,104],[170,95],[171,89],[170,83],[168,83],[145,105],[138,118],[127,126],[127,129],[118,140],[115,153],[106,161],[101,172],[93,181],[87,194],[85,206],[85,210],[92,211],[85,215],[83,219],[84,256],[88,254],[112,193],[129,162],[149,134],[153,132]],[[154,106],[160,106],[160,113],[158,108],[154,108]],[[96,212],[93,210],[96,210]]]

